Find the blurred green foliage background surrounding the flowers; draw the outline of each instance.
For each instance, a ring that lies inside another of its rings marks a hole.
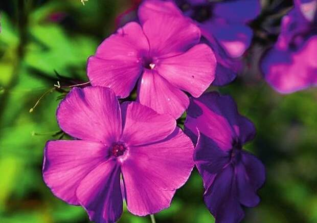
[[[32,113],[29,109],[57,80],[62,85],[87,81],[87,57],[115,30],[115,16],[129,4],[128,0],[90,0],[85,6],[79,0],[0,3],[0,222],[89,221],[81,207],[54,197],[41,176],[43,146],[61,136],[56,133],[60,129],[55,110],[58,97],[66,92],[53,91]],[[251,54],[258,53],[256,47]],[[317,222],[317,91],[279,95],[253,67],[218,90],[232,95],[241,114],[255,123],[257,137],[246,149],[258,155],[267,171],[259,191],[262,202],[246,209],[244,222]],[[194,170],[171,207],[155,215],[156,221],[213,222],[202,193]],[[120,222],[143,223],[150,218],[133,216],[125,208]]]

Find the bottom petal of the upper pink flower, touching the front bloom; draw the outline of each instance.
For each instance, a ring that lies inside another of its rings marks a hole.
[[[189,105],[187,95],[154,70],[144,70],[138,89],[138,101],[157,113],[179,118]]]

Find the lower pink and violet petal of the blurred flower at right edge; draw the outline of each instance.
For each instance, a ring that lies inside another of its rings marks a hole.
[[[317,86],[317,36],[296,51],[271,49],[262,59],[265,80],[278,92],[289,94]]]

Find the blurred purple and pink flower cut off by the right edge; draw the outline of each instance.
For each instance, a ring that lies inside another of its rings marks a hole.
[[[265,80],[289,94],[317,85],[317,1],[295,0],[282,19],[281,33],[261,62]]]

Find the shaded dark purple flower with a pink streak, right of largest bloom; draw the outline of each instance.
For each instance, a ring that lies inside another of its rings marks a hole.
[[[258,205],[256,192],[265,180],[261,161],[242,149],[255,136],[253,123],[238,113],[230,96],[211,92],[191,98],[185,132],[196,143],[194,161],[205,187],[203,198],[216,222],[241,221],[241,205]]]

